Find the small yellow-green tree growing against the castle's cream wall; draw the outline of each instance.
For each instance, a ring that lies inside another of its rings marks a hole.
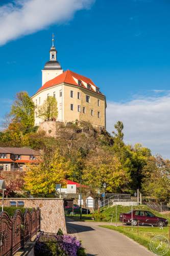
[[[38,109],[38,117],[42,117],[46,120],[57,119],[58,107],[57,100],[53,96],[48,96]]]

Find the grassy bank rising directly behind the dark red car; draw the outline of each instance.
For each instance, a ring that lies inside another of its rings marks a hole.
[[[147,205],[138,205],[138,206],[133,206],[133,210],[149,210],[151,211],[153,214],[155,214],[158,217],[163,217],[163,218],[167,218],[167,216],[164,216],[162,214],[160,214],[160,212],[151,209],[150,207],[148,207]],[[119,215],[120,213],[126,213],[128,211],[131,210],[131,206],[122,206],[122,205],[117,205],[117,221],[119,221]],[[103,221],[111,221],[112,218],[112,214],[113,214],[113,222],[116,221],[116,206],[112,206],[112,207],[103,207],[101,209],[102,214],[105,216],[105,218],[103,219]],[[167,218],[168,219],[168,218]],[[170,222],[170,219],[168,219],[168,222]]]

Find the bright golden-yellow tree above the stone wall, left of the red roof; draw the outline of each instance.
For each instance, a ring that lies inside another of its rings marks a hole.
[[[55,184],[64,183],[67,162],[59,151],[46,148],[39,164],[29,165],[25,176],[25,189],[34,196],[47,197],[55,193]]]

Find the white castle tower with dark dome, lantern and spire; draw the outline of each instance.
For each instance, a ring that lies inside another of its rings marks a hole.
[[[54,34],[52,39],[52,47],[50,49],[50,61],[45,63],[42,70],[42,86],[45,82],[55,78],[56,76],[63,73],[60,63],[57,61],[57,50],[54,44]]]

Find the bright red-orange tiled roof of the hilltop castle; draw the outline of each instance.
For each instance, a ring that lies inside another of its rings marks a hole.
[[[69,84],[73,84],[74,86],[79,86],[78,83],[75,81],[75,79],[74,79],[73,77],[76,78],[76,79],[78,79],[78,80],[81,80],[81,81],[83,81],[83,82],[92,84],[94,87],[96,87],[95,84],[93,83],[93,81],[92,81],[90,78],[87,78],[87,77],[85,77],[85,76],[79,75],[79,74],[74,73],[74,72],[72,72],[72,71],[70,71],[70,70],[67,70],[67,71],[63,72],[61,75],[56,76],[56,77],[53,78],[52,80],[47,81],[47,82],[37,91],[37,93],[40,92],[40,91],[42,91],[42,90],[44,90],[44,89],[47,89],[47,88],[56,86],[57,84],[60,84],[60,83],[63,83],[63,82],[69,83]],[[86,88],[86,87],[83,85],[83,83],[82,83],[82,87]],[[98,87],[96,87],[96,88],[98,88]],[[87,88],[86,88],[86,89],[87,89]],[[92,90],[92,89],[89,89],[89,90]],[[92,91],[94,91],[94,90],[92,90]]]

